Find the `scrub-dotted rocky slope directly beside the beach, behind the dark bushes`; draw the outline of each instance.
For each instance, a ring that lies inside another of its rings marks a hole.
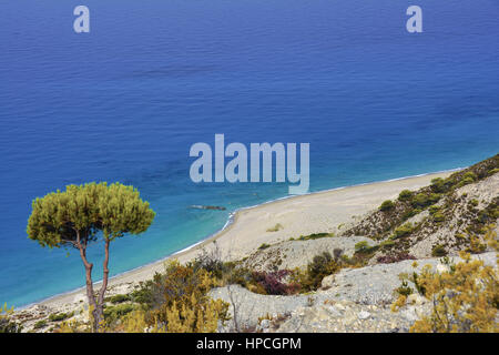
[[[404,260],[483,253],[486,226],[498,225],[499,155],[437,179],[418,191],[403,191],[396,201],[357,216],[340,233],[317,233],[266,245],[243,261],[257,271],[295,268],[315,255],[340,252],[363,255],[374,265]],[[497,229],[497,227],[496,227]],[[356,250],[365,243],[364,251]],[[367,262],[368,260],[368,262]]]

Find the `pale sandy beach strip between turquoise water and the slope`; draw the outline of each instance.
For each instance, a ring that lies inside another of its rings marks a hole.
[[[252,254],[263,243],[272,244],[312,233],[337,232],[338,226],[352,223],[355,217],[376,209],[383,201],[396,199],[401,190],[419,189],[428,185],[432,179],[448,176],[454,171],[457,170],[286,196],[241,209],[230,216],[220,232],[160,261],[113,276],[110,288],[130,286],[151,278],[155,272],[163,270],[166,260],[190,261],[201,250],[213,247],[215,241],[224,260],[238,260]],[[282,227],[271,232],[276,224]],[[58,310],[64,304],[79,302],[77,300],[84,298],[84,294],[81,287],[20,310],[37,304]]]

